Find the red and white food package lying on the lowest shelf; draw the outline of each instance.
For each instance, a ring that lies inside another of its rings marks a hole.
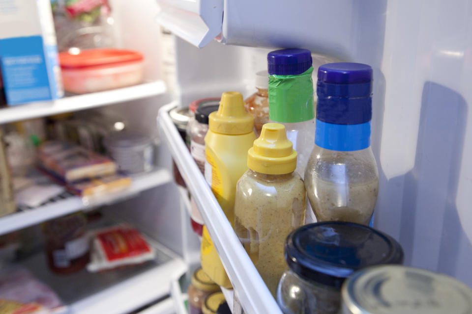
[[[98,272],[153,260],[154,248],[130,225],[119,225],[94,233],[87,270]]]

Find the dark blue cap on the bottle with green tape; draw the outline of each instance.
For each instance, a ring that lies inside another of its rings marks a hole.
[[[267,54],[269,75],[298,75],[311,67],[311,52],[306,49],[281,49]]]

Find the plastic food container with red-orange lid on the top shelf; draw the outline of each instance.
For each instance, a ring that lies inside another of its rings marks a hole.
[[[143,55],[118,49],[59,53],[64,89],[84,94],[135,85],[143,81]]]

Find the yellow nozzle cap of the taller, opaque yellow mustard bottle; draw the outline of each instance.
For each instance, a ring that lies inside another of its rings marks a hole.
[[[244,101],[241,93],[224,92],[221,95],[218,111],[208,116],[210,131],[237,135],[253,131],[254,117],[244,110]]]

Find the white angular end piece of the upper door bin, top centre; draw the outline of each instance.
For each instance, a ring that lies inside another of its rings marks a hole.
[[[202,48],[221,33],[223,0],[157,0],[157,22]]]

